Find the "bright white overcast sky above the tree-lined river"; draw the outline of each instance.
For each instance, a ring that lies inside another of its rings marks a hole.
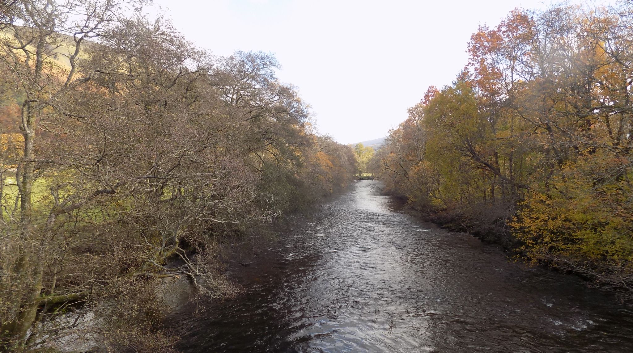
[[[196,46],[264,51],[297,87],[321,133],[343,144],[384,137],[429,85],[451,84],[479,25],[542,0],[154,0]]]

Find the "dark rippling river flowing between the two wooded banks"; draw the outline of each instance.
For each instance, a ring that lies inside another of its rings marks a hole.
[[[357,182],[229,266],[243,295],[183,307],[183,352],[633,352],[633,311]]]

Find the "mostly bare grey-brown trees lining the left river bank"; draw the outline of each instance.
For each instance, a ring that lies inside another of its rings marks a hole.
[[[143,5],[0,3],[0,350],[53,349],[74,312],[102,349],[168,352],[160,279],[231,295],[218,244],[354,178],[273,56],[213,56]]]

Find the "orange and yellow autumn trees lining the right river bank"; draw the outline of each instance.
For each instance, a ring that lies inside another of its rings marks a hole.
[[[480,27],[373,168],[391,194],[529,263],[633,295],[633,8],[515,9]]]

